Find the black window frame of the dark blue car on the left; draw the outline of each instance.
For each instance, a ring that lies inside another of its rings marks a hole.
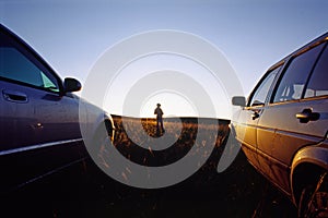
[[[63,95],[62,81],[55,73],[55,71],[50,68],[50,65],[23,39],[21,39],[19,36],[13,34],[9,29],[2,28],[2,26],[0,26],[0,27],[1,27],[0,28],[1,34],[3,34],[7,37],[7,40],[9,40],[8,44],[11,45],[19,52],[21,52],[28,61],[31,61],[36,68],[38,68],[47,77],[54,77],[57,82],[59,90],[58,92],[51,90],[49,88],[35,86],[33,84],[24,83],[22,81],[11,80],[11,78],[3,77],[3,76],[0,76],[0,80],[62,96]]]

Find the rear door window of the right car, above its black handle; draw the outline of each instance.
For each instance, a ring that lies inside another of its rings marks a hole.
[[[276,90],[273,102],[301,99],[305,83],[311,74],[323,44],[296,56],[285,70]]]

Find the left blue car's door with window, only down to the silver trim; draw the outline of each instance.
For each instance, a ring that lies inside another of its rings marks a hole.
[[[14,146],[81,138],[79,99],[63,93],[61,80],[36,53],[4,34],[1,41],[2,99],[13,109],[2,110],[11,113],[2,118],[20,123],[14,135],[28,136]]]

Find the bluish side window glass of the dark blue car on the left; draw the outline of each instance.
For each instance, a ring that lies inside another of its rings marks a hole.
[[[11,38],[0,35],[0,76],[13,82],[28,84],[43,89],[59,92],[58,82],[45,73],[26,55],[20,51]]]

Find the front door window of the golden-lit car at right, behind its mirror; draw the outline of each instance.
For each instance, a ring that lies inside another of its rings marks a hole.
[[[270,87],[279,72],[281,66],[274,69],[269,74],[267,74],[266,78],[262,80],[261,84],[258,86],[256,92],[254,93],[251,99],[249,100],[248,106],[262,106],[266,102],[268,93],[270,90]]]

